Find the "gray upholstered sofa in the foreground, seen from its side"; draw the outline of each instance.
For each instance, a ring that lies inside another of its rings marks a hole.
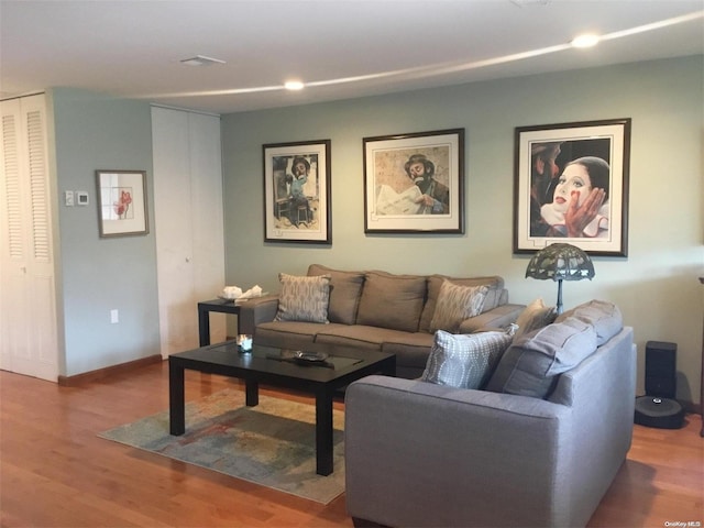
[[[355,526],[587,524],[630,448],[632,329],[592,301],[508,341],[482,389],[428,383],[428,372],[348,387]]]

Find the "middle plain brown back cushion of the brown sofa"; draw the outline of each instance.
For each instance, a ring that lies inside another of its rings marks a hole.
[[[426,277],[366,272],[358,324],[415,332],[426,300]]]

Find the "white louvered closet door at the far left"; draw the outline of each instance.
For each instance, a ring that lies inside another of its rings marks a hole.
[[[44,96],[2,101],[0,367],[57,381]]]

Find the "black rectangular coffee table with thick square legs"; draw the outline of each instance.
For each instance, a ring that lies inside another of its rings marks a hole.
[[[320,350],[317,350],[320,352]],[[370,374],[396,375],[396,356],[382,352],[330,348],[324,362],[300,362],[294,351],[254,345],[242,352],[234,341],[168,358],[170,433],[186,432],[184,372],[186,369],[238,377],[245,383],[245,402],[258,404],[260,383],[292,388],[316,397],[316,471],[332,473],[332,400],[337,391]]]

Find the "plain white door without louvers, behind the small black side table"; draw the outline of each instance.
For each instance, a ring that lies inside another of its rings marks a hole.
[[[162,356],[198,346],[199,300],[224,286],[220,119],[152,108]],[[226,334],[211,316],[211,340]]]

